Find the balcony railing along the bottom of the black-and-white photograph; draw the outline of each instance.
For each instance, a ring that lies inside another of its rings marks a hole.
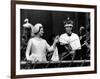
[[[20,66],[21,69],[82,67],[82,66],[90,66],[90,60],[67,60],[67,61],[46,61],[46,62],[21,61]]]

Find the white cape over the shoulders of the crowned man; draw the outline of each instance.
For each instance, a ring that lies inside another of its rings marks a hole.
[[[72,50],[81,49],[79,37],[75,33],[72,33],[71,36],[68,36],[67,33],[64,33],[60,36],[59,41],[62,44],[70,44]]]

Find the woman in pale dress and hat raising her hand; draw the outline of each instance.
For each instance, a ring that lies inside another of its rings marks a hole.
[[[34,37],[31,38],[28,42],[26,49],[26,59],[32,62],[47,61],[47,52],[52,52],[55,50],[56,43],[58,42],[58,36],[54,39],[52,46],[49,46],[46,40],[41,38],[44,33],[42,24],[35,24],[32,28],[32,33]]]

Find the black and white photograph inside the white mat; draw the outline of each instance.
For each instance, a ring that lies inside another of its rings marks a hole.
[[[90,66],[90,13],[21,9],[21,69]]]

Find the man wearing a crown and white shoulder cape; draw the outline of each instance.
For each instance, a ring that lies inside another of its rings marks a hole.
[[[81,49],[79,36],[72,32],[73,21],[70,20],[70,18],[67,18],[67,20],[65,21],[64,28],[65,28],[65,33],[60,36],[59,42],[60,45],[62,45],[65,48],[65,51],[67,52],[64,53],[62,52],[63,55],[65,55],[65,56],[62,55],[62,58],[66,59],[69,54],[72,55],[73,59],[75,56],[75,51]]]

